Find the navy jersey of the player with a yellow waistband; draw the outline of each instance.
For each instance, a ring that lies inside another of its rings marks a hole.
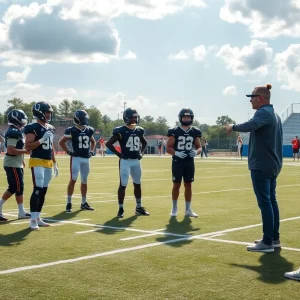
[[[38,141],[39,139],[41,139],[44,136],[46,131],[54,132],[55,128],[50,124],[46,124],[45,126],[42,126],[39,123],[31,123],[26,125],[24,128],[25,135],[29,133],[35,135],[34,141]],[[48,138],[43,144],[39,145],[37,148],[31,151],[30,157],[52,160],[52,143],[53,141],[51,141],[50,138]]]

